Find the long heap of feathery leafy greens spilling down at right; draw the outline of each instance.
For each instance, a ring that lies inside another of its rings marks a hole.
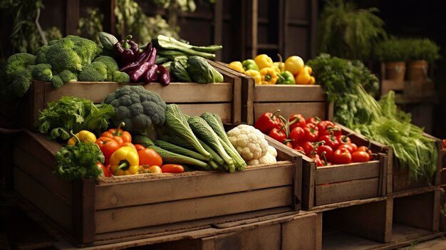
[[[398,110],[393,91],[377,101],[379,83],[359,61],[322,54],[307,62],[318,83],[334,102],[334,121],[372,140],[390,145],[395,163],[410,177],[431,177],[437,168],[435,141],[422,128],[410,123],[410,114]]]

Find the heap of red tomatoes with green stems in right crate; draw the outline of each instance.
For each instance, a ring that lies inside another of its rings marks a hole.
[[[266,117],[269,123],[266,127],[272,128],[262,132],[311,157],[318,167],[367,162],[373,158],[368,147],[358,147],[348,135],[342,134],[341,127],[330,120],[317,117],[305,119],[301,114],[290,115],[287,120],[281,115],[276,116],[276,113],[267,113]],[[264,129],[265,126],[259,124],[259,127]]]

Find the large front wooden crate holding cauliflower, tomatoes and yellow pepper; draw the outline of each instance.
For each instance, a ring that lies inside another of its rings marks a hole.
[[[259,216],[278,208],[300,208],[301,157],[280,149],[276,164],[242,172],[66,182],[53,174],[54,155],[60,148],[44,135],[25,130],[14,142],[14,190],[73,235],[77,244],[191,230],[225,222],[222,217],[232,214],[258,212]]]

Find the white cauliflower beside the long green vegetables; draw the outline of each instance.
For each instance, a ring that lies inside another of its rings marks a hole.
[[[229,141],[247,165],[276,162],[276,149],[266,141],[264,134],[251,125],[238,125],[227,132]],[[270,149],[272,148],[272,150]],[[269,150],[271,150],[270,153]],[[267,154],[268,153],[268,154]],[[274,155],[275,154],[275,155]]]

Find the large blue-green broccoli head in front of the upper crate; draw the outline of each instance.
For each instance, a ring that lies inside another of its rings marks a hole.
[[[126,130],[156,139],[155,126],[165,123],[166,103],[156,92],[141,85],[126,85],[115,90],[104,100],[115,108],[111,123],[125,123]]]

